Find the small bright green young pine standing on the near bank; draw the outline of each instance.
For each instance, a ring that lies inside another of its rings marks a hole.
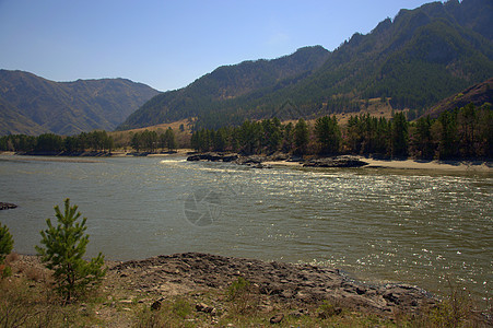
[[[70,200],[64,200],[64,212],[61,213],[58,206],[55,207],[57,226],[47,219],[48,229],[42,231],[42,244],[36,246],[37,253],[46,268],[54,270],[54,277],[58,284],[57,291],[66,302],[73,296],[84,293],[90,286],[97,284],[105,276],[104,256],[85,261],[82,257],[89,243],[89,235],[84,234],[86,218],[82,222],[75,222],[81,213],[78,207],[70,206]]]

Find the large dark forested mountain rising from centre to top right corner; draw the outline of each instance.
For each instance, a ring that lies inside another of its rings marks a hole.
[[[208,128],[278,115],[309,118],[356,112],[375,97],[389,99],[396,109],[423,112],[493,77],[491,26],[491,0],[401,10],[332,52],[308,47],[275,60],[219,68],[152,98],[119,129],[184,118],[197,118],[198,127]],[[282,65],[287,61],[292,70]]]

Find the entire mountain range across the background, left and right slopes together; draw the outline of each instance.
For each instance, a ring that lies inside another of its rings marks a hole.
[[[493,77],[492,26],[491,0],[433,2],[401,10],[333,51],[313,46],[224,66],[165,93],[124,79],[54,82],[0,70],[0,134],[125,130],[187,118],[216,129],[359,112],[371,98],[425,113]]]

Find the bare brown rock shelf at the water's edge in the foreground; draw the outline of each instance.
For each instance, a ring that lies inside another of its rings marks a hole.
[[[138,291],[163,294],[226,289],[243,277],[259,294],[294,305],[328,300],[344,307],[385,314],[395,308],[419,312],[424,305],[435,303],[419,288],[407,284],[366,285],[337,269],[198,253],[127,261],[115,266],[111,271],[127,279]]]

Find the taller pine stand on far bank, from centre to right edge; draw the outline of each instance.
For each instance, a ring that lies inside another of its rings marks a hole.
[[[403,112],[392,118],[369,114],[351,116],[340,126],[336,116],[318,118],[313,126],[303,118],[281,124],[278,118],[246,120],[237,127],[200,129],[191,136],[199,152],[233,151],[244,154],[286,152],[296,155],[342,153],[415,159],[491,159],[493,115],[490,104],[470,104],[438,118],[409,122]]]

